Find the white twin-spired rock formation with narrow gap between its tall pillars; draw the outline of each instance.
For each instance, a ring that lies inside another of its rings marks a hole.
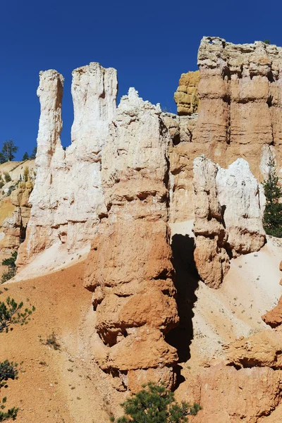
[[[72,144],[64,151],[60,140],[63,77],[54,70],[40,73],[37,178],[18,264],[26,264],[54,243],[73,251],[92,240],[99,216],[106,212],[101,152],[116,110],[116,94],[116,70],[90,63],[73,71]]]

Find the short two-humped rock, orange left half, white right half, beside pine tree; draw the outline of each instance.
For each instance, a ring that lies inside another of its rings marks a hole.
[[[264,245],[262,192],[243,159],[223,169],[198,157],[193,184],[195,264],[204,283],[219,288],[230,257],[258,251]]]

